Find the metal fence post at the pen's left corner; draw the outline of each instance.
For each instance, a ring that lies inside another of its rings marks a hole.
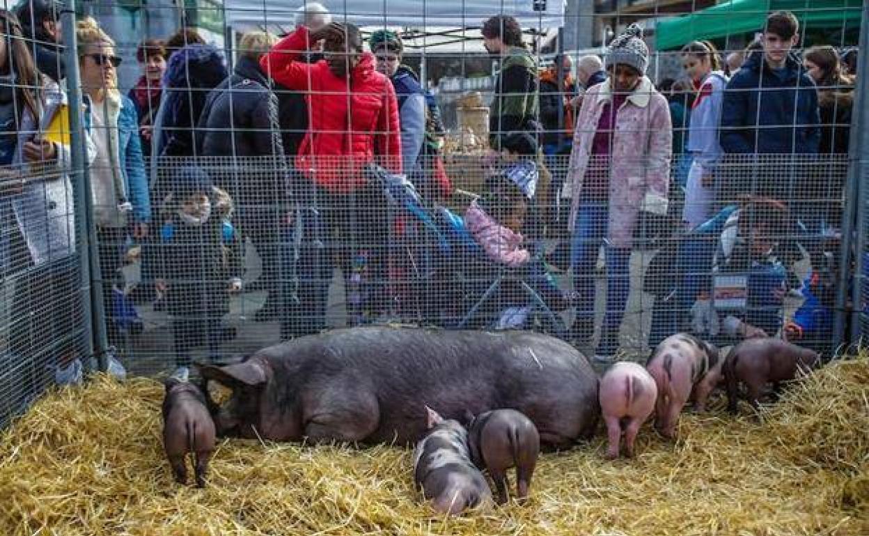
[[[76,211],[76,241],[80,245],[84,333],[90,357],[95,354],[97,366],[106,369],[107,347],[103,294],[96,276],[99,275],[96,254],[96,228],[93,220],[93,199],[90,195],[90,174],[87,168],[87,149],[84,137],[82,82],[78,72],[78,44],[76,41],[76,0],[67,0],[61,13],[63,29],[63,62],[66,65],[66,94],[70,103],[70,156],[74,184]],[[97,283],[95,286],[95,282]],[[88,363],[91,366],[91,363]]]

